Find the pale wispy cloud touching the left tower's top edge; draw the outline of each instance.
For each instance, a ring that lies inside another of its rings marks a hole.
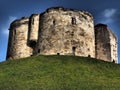
[[[9,26],[12,21],[17,19],[17,17],[10,16],[8,21],[6,21],[6,24],[2,27],[2,34],[8,36],[9,34]]]

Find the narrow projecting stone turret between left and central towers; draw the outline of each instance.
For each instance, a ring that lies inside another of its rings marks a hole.
[[[33,55],[35,54],[35,48],[38,40],[38,31],[40,24],[40,14],[32,14],[29,21],[29,33],[28,33],[28,43],[33,49]]]

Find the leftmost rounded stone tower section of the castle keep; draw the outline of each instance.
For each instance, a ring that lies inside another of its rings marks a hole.
[[[22,18],[11,24],[7,59],[28,57],[32,54],[32,48],[28,46],[29,19]]]

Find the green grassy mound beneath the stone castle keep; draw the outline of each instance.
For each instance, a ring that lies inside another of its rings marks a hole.
[[[120,65],[77,56],[6,61],[0,90],[120,90]]]

